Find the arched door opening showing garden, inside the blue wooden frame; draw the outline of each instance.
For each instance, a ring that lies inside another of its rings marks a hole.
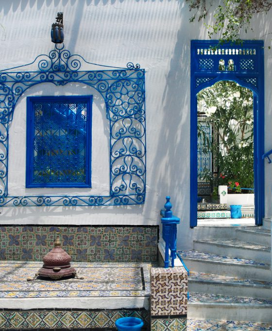
[[[253,92],[222,80],[197,93],[199,225],[255,225]]]

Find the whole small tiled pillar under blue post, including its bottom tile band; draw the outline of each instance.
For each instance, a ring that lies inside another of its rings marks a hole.
[[[184,267],[151,268],[151,331],[187,330],[188,274]]]

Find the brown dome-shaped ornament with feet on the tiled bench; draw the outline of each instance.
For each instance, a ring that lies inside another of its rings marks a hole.
[[[28,277],[27,280],[34,280],[38,276],[51,278],[54,280],[61,279],[63,277],[73,276],[77,279],[84,279],[79,277],[75,268],[70,265],[71,257],[68,253],[61,248],[59,237],[54,242],[54,248],[43,257],[43,266],[35,274],[35,276]]]

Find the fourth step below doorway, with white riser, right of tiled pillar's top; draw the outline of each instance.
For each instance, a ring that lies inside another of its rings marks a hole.
[[[272,282],[191,271],[188,291],[272,299]]]

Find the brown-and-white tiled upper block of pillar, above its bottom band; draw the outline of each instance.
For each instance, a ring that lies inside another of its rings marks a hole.
[[[187,314],[188,275],[184,267],[151,268],[152,316]]]

